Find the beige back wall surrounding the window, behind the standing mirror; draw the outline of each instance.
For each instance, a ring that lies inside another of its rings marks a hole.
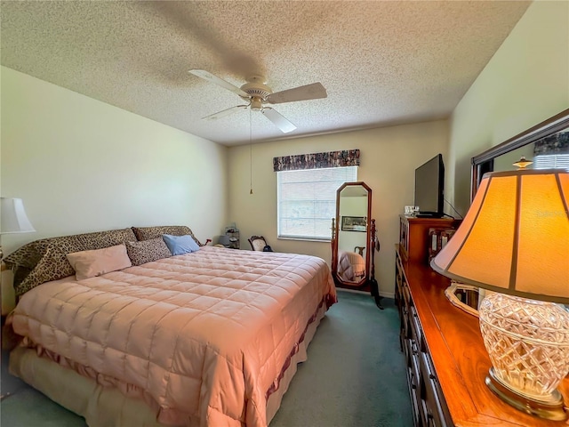
[[[393,295],[395,249],[399,238],[398,215],[413,204],[414,170],[437,153],[446,158],[448,123],[439,120],[365,131],[333,133],[308,138],[272,141],[250,147],[229,148],[229,220],[241,230],[241,247],[249,249],[247,238],[262,235],[277,252],[314,254],[331,260],[330,243],[276,239],[276,173],[273,157],[317,153],[338,149],[360,149],[358,180],[373,191],[372,217],[381,241],[376,254],[376,275],[381,294]]]

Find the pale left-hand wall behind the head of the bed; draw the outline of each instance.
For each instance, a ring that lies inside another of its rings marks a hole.
[[[60,86],[1,68],[3,197],[21,197],[37,232],[4,235],[9,254],[38,238],[188,225],[205,241],[227,221],[227,148]]]

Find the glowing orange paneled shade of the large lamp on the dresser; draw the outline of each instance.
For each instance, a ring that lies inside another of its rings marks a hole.
[[[461,227],[431,261],[457,281],[569,303],[569,173],[486,173]]]

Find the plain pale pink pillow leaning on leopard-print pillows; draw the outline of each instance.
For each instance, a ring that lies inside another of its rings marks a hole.
[[[109,271],[123,270],[132,266],[124,245],[74,252],[67,256],[68,262],[75,270],[77,280],[94,278]]]

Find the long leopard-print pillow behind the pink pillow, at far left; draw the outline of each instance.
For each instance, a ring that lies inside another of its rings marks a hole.
[[[16,295],[20,296],[42,283],[75,275],[67,254],[102,249],[128,241],[136,241],[131,229],[43,238],[20,247],[4,258],[4,262],[8,268],[15,270],[14,289]]]

